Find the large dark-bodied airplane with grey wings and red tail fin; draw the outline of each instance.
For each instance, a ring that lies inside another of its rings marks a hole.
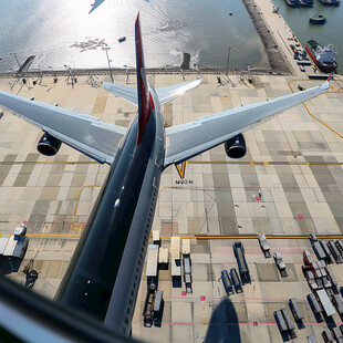
[[[1,107],[43,131],[41,154],[53,156],[64,143],[111,165],[55,301],[125,335],[131,332],[164,169],[220,144],[228,157],[241,158],[247,152],[243,132],[252,124],[330,87],[329,77],[320,86],[165,128],[160,106],[199,86],[201,80],[158,90],[147,83],[139,13],[135,46],[137,87],[103,83],[137,106],[128,128],[0,91]]]

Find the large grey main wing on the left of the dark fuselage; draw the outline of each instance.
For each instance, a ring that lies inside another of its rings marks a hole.
[[[112,164],[126,128],[62,107],[0,91],[0,107],[18,114],[51,136],[100,163]]]

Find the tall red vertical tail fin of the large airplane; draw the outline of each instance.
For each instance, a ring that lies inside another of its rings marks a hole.
[[[135,23],[135,41],[136,41],[136,67],[137,67],[137,95],[138,95],[138,137],[137,146],[141,143],[145,125],[150,117],[150,98],[149,87],[146,81],[143,43],[139,23],[139,13]]]

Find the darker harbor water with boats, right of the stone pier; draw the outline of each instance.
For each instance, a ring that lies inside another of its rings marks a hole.
[[[280,13],[288,22],[303,48],[306,41],[313,39],[321,45],[333,44],[333,50],[337,52],[337,71],[343,72],[343,2],[339,7],[323,6],[319,0],[314,0],[312,8],[290,8],[284,0],[273,0]],[[326,15],[326,23],[313,25],[309,19],[314,14]]]

